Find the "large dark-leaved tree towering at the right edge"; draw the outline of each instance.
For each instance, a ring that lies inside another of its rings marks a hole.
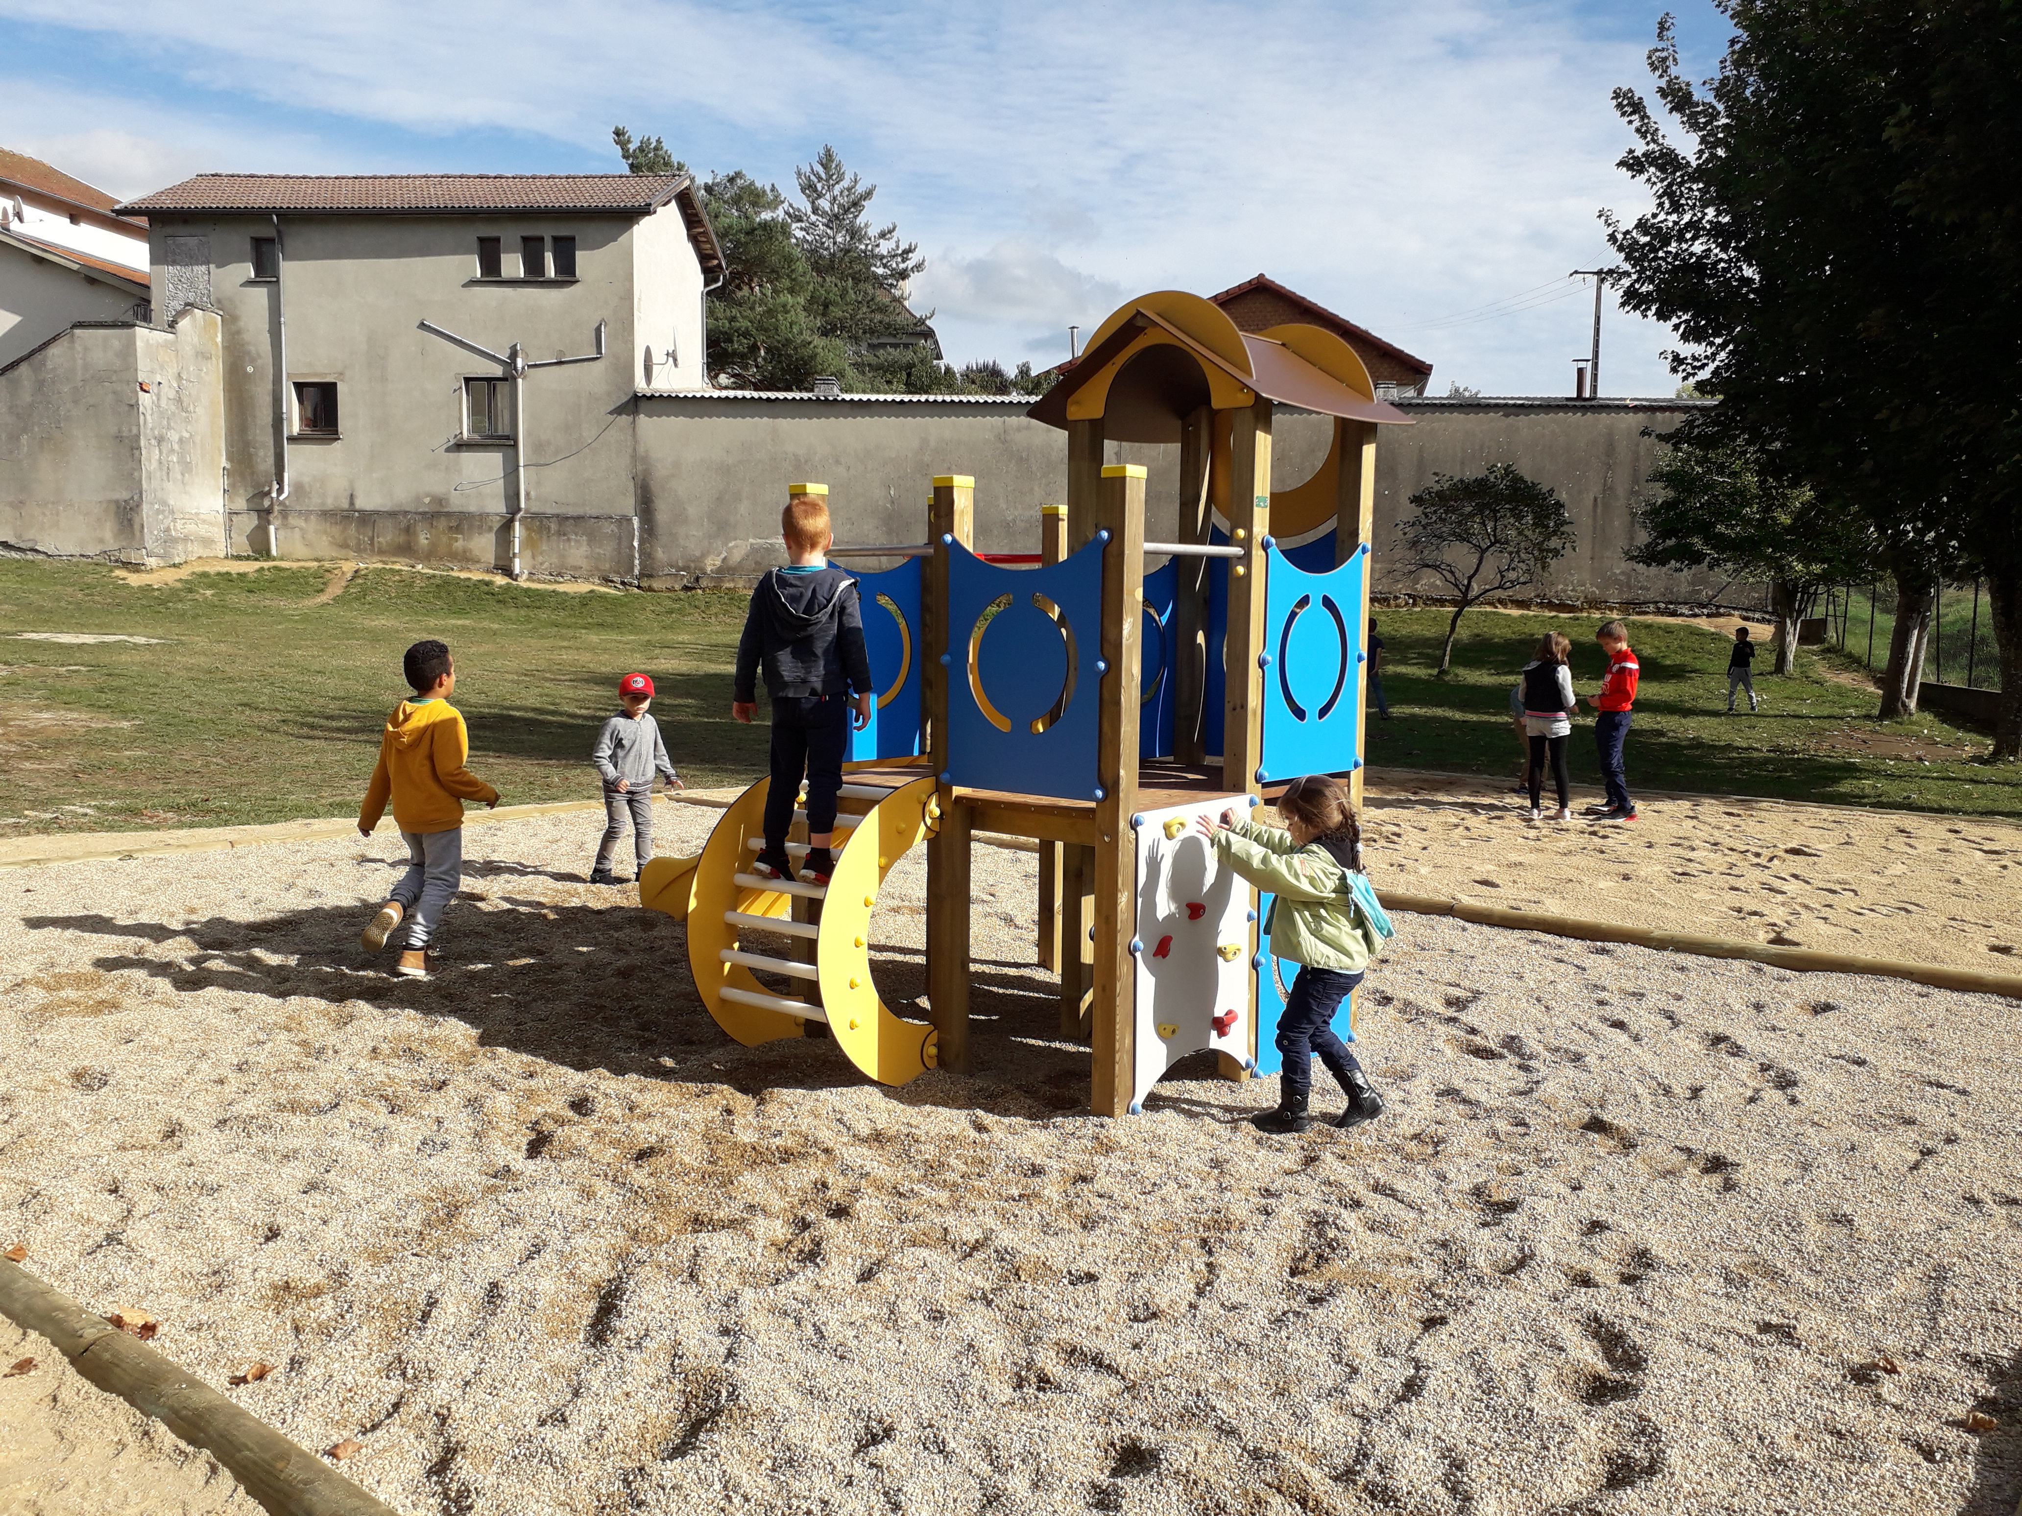
[[[1616,91],[1652,210],[1603,212],[1622,303],[1670,321],[1721,396],[1690,441],[1745,443],[1852,503],[1897,582],[1882,716],[1915,707],[1933,588],[1988,576],[1996,758],[2022,754],[2022,4],[1721,0],[1719,75]]]

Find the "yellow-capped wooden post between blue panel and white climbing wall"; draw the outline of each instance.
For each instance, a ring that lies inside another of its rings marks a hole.
[[[1072,517],[1070,517],[1072,519]],[[1102,663],[1096,705],[1096,952],[1094,952],[1094,1079],[1096,1116],[1122,1116],[1130,1106],[1136,1061],[1136,811],[1138,778],[1138,653],[1144,627],[1144,467],[1110,463],[1102,469],[1100,505],[1092,532],[1106,530],[1102,550]]]

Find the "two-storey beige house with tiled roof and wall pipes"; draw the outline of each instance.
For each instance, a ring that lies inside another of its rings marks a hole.
[[[542,513],[631,566],[633,398],[708,386],[685,174],[200,174],[119,212],[156,319],[218,313],[233,552],[512,566]]]

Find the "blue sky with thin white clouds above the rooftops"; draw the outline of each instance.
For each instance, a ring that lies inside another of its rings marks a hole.
[[[946,356],[1035,368],[1136,293],[1258,273],[1434,364],[1569,394],[1644,208],[1610,91],[1658,16],[1713,73],[1713,0],[1015,6],[0,0],[0,146],[113,194],[202,172],[611,172],[611,127],[791,190],[823,144],[920,245]],[[1607,305],[1601,394],[1670,334]]]

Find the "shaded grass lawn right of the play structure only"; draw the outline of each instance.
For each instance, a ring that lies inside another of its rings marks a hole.
[[[1605,657],[1593,641],[1599,617],[1504,614],[1476,610],[1460,623],[1454,667],[1442,679],[1440,643],[1446,610],[1379,610],[1385,641],[1383,689],[1391,722],[1371,722],[1375,768],[1442,768],[1516,776],[1516,740],[1508,691],[1537,639],[1561,631],[1573,639],[1573,685],[1593,695]],[[1727,707],[1729,639],[1668,621],[1630,621],[1630,645],[1642,665],[1636,724],[1630,730],[1630,792],[1701,790],[1830,804],[1874,804],[1961,815],[2022,815],[2022,766],[1988,764],[1984,734],[1935,716],[1876,722],[1876,695],[1860,687],[1858,663],[1806,649],[1798,673],[1777,679],[1755,657],[1759,716]],[[1828,677],[1840,673],[1840,679]],[[1581,707],[1573,726],[1575,786],[1599,786],[1593,716]]]

